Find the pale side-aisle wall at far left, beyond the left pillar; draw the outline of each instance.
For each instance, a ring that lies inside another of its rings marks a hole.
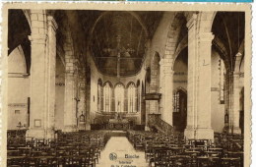
[[[25,55],[18,46],[8,56],[8,130],[29,126],[28,97],[30,97],[30,77],[26,76]]]

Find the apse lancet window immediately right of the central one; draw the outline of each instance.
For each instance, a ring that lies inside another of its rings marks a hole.
[[[128,86],[128,112],[136,112],[136,87],[134,83]]]

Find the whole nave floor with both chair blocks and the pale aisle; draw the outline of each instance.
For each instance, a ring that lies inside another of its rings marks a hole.
[[[8,166],[241,167],[243,137],[215,134],[214,140],[184,139],[145,131],[56,132],[55,139],[8,134]]]

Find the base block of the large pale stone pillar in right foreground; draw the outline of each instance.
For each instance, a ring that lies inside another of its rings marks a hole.
[[[212,129],[186,129],[184,132],[186,139],[214,139],[214,130]]]

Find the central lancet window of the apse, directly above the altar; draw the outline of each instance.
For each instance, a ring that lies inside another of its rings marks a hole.
[[[115,86],[115,111],[123,112],[124,111],[124,86],[121,83],[118,83]]]

